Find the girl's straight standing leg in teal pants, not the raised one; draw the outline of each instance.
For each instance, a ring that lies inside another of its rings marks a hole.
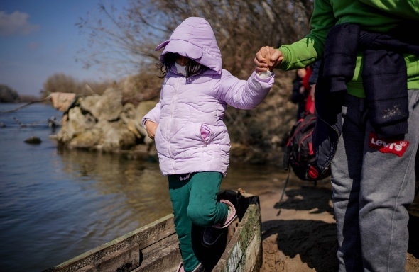
[[[192,271],[200,263],[192,250],[192,221],[187,216],[190,198],[190,179],[180,180],[185,175],[170,175],[169,193],[175,215],[175,229],[178,234],[180,252],[182,254],[185,271]]]

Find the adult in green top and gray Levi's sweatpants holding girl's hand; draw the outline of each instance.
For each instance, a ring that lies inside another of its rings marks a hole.
[[[406,29],[419,0],[315,0],[310,23],[302,40],[262,47],[256,71],[322,58],[313,147],[332,169],[339,271],[404,271],[419,142],[419,36]]]

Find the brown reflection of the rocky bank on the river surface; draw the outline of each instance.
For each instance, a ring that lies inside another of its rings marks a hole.
[[[60,155],[62,171],[71,174],[82,191],[111,198],[106,212],[116,215],[119,208],[129,210],[131,215],[123,215],[123,222],[134,221],[142,226],[170,212],[167,180],[158,164],[77,150],[60,150]]]

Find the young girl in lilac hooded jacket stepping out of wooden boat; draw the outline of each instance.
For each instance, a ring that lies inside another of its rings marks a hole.
[[[217,201],[229,166],[224,111],[227,105],[251,109],[261,103],[273,73],[254,72],[246,81],[222,69],[217,40],[203,18],[187,18],[156,50],[162,48],[160,101],[142,123],[156,141],[160,171],[168,176],[183,259],[178,271],[204,271],[192,249],[192,223],[205,227],[202,243],[211,246],[219,238],[217,229],[236,217],[232,203]]]

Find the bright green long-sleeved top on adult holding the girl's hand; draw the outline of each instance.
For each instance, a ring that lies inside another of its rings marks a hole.
[[[278,66],[285,71],[306,67],[323,55],[323,47],[329,29],[338,23],[356,23],[371,32],[386,33],[404,19],[418,22],[406,29],[415,33],[419,26],[419,0],[315,0],[311,18],[312,30],[305,38],[291,45],[282,45],[284,60]],[[408,68],[408,89],[419,89],[419,56],[404,55]],[[364,98],[361,79],[362,55],[352,81],[347,84],[348,93]]]

